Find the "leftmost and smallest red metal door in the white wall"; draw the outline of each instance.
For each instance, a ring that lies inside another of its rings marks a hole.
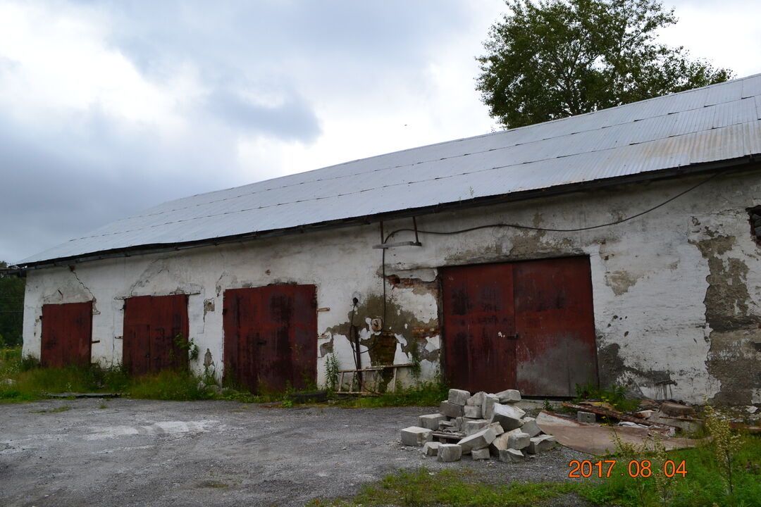
[[[90,364],[93,303],[43,305],[40,364],[61,368]]]

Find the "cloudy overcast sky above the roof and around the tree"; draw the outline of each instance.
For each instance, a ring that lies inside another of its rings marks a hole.
[[[663,40],[761,72],[761,2],[682,0]],[[0,0],[0,260],[154,204],[496,128],[501,0]]]

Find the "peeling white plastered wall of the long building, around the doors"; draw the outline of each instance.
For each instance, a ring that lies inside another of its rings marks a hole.
[[[556,229],[587,227],[644,211],[702,178],[705,176],[463,208],[418,217],[418,226],[437,231],[498,222]],[[741,396],[747,399],[744,402],[758,403],[758,371],[756,379],[750,379],[753,372],[748,372],[745,382],[730,378],[727,371],[731,367],[724,364],[731,364],[733,353],[740,354],[740,363],[750,360],[756,368],[761,360],[759,347],[753,346],[761,344],[761,246],[750,236],[746,211],[758,205],[758,173],[721,176],[663,208],[610,227],[573,233],[490,228],[451,236],[422,234],[422,248],[407,246],[387,252],[386,271],[387,275],[428,282],[436,279],[437,268],[446,265],[589,255],[603,382],[626,384],[651,398],[692,402],[716,395],[717,399],[726,398],[731,382],[733,391],[747,391]],[[411,220],[384,224],[387,233],[410,226]],[[412,236],[401,233],[395,239],[408,240]],[[366,299],[382,293],[381,252],[371,248],[378,242],[378,227],[372,224],[182,252],[88,261],[75,265],[74,271],[68,267],[29,271],[24,353],[40,354],[43,304],[94,299],[93,339],[100,343],[93,345],[93,359],[104,364],[118,363],[123,298],[188,293],[190,337],[201,352],[193,367],[202,369],[208,349],[220,374],[224,290],[288,282],[317,286],[317,306],[330,308],[317,313],[318,350],[332,341],[340,365],[351,368],[354,360],[348,337],[332,333],[330,328],[348,322],[352,294]],[[712,350],[712,337],[719,335],[706,322],[711,259],[714,271],[732,273],[729,284],[734,288],[744,285],[745,289],[740,298],[745,299],[744,303],[736,302],[735,306],[740,307],[732,310],[742,314],[739,320],[743,322],[732,324],[731,315],[728,317],[729,327],[734,329],[721,331],[721,350]],[[747,268],[740,269],[744,274],[738,273],[738,265]],[[429,286],[389,284],[387,294],[390,308],[410,312],[419,324],[438,329],[438,301]],[[213,303],[214,311],[204,311],[205,301]],[[377,313],[368,310],[355,315],[355,323],[364,326],[362,337],[371,335],[369,320],[379,317]],[[413,339],[412,331],[397,327],[392,330],[399,342],[394,361],[407,363],[411,357],[402,347]],[[421,379],[431,379],[438,372],[438,360],[429,360],[430,353],[441,346],[441,337],[428,336],[422,339],[421,346],[429,356],[422,361]],[[365,353],[363,361],[367,356]],[[317,361],[319,383],[324,382],[325,359],[323,355]],[[409,375],[402,376],[406,382],[413,380]]]

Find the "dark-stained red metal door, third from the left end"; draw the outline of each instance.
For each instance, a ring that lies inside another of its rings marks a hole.
[[[224,291],[224,378],[252,392],[317,379],[314,285]]]

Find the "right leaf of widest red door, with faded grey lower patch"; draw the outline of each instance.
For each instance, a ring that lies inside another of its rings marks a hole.
[[[514,265],[517,388],[533,395],[573,396],[597,383],[597,348],[589,258]]]

